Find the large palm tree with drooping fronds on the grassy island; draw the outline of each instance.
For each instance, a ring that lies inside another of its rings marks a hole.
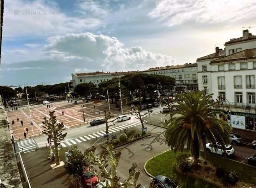
[[[229,133],[232,128],[226,121],[215,116],[216,113],[225,114],[223,110],[214,108],[218,101],[212,101],[212,95],[203,92],[178,94],[175,96],[178,105],[174,105],[177,111],[170,112],[171,119],[165,123],[166,143],[175,151],[182,152],[185,147],[191,151],[194,167],[198,166],[201,143],[206,153],[206,140],[212,142],[215,149],[216,142],[222,146],[230,142]]]

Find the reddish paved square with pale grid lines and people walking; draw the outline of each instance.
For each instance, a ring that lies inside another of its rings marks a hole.
[[[63,122],[66,129],[70,129],[74,126],[79,126],[87,124],[89,121],[95,118],[103,118],[103,111],[108,108],[107,101],[101,102],[82,102],[79,101],[77,104],[71,102],[57,102],[50,103],[50,108],[47,108],[47,105],[42,105],[40,107],[30,108],[29,109],[18,109],[17,111],[7,112],[8,120],[10,121],[10,126],[13,131],[14,139],[24,138],[23,133],[25,132],[26,127],[29,129],[27,137],[30,136],[39,136],[42,133],[42,121],[44,117],[48,117],[49,111],[55,111],[56,119],[59,122]],[[83,109],[81,105],[84,105],[84,118],[83,121]],[[95,109],[94,109],[95,106]],[[113,115],[118,115],[121,111],[118,111],[118,108],[115,108],[115,105],[112,104],[111,112]],[[62,111],[64,115],[62,115]],[[30,125],[30,114],[33,126]],[[17,121],[17,118],[19,121]],[[12,120],[14,124],[12,124]],[[20,121],[23,120],[23,126]],[[34,134],[32,133],[32,129]]]

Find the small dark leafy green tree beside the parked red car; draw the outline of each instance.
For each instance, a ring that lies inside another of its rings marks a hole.
[[[83,176],[83,171],[89,167],[89,162],[85,158],[84,153],[78,150],[77,146],[74,145],[68,151],[67,161],[64,165],[66,172],[73,175],[73,178],[77,181]]]

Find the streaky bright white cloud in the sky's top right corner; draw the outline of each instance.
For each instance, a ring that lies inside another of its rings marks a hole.
[[[173,26],[186,21],[233,23],[256,18],[255,11],[256,3],[251,0],[160,0],[148,15]]]

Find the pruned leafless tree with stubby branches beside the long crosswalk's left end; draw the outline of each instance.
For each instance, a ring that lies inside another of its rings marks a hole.
[[[46,134],[50,140],[53,140],[54,146],[55,146],[55,160],[56,165],[60,164],[60,157],[59,157],[59,150],[58,146],[60,145],[60,142],[65,140],[65,137],[67,136],[67,133],[62,134],[62,129],[64,127],[64,124],[57,123],[56,116],[54,115],[55,111],[50,111],[48,119],[47,117],[43,118],[43,128],[42,131],[43,134]],[[57,123],[57,124],[56,124]],[[52,142],[52,141],[51,141]]]

